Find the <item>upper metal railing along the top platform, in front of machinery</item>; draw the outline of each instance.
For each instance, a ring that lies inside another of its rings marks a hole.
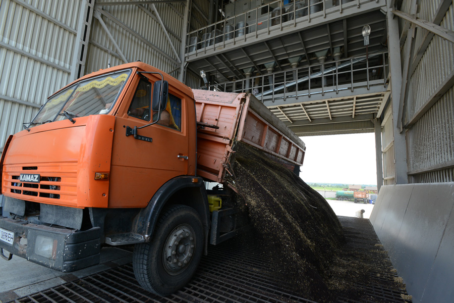
[[[346,8],[359,8],[362,3],[369,2],[370,0],[302,0],[295,5],[285,5],[283,0],[277,0],[189,32],[186,36],[185,54],[205,53],[208,49],[215,50],[228,43],[246,41],[249,37],[257,38],[272,30],[296,26],[297,22],[311,22],[312,18],[326,17],[326,14],[334,12],[342,13]],[[252,33],[255,34],[251,35]]]

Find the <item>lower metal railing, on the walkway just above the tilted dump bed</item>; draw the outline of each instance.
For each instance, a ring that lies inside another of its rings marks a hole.
[[[389,72],[387,52],[368,57],[348,58],[323,64],[310,65],[272,74],[254,76],[237,81],[209,85],[210,90],[240,93],[252,92],[264,100],[321,95],[357,87],[382,85],[385,87]],[[206,86],[203,87],[206,89]],[[317,96],[315,96],[317,98]]]

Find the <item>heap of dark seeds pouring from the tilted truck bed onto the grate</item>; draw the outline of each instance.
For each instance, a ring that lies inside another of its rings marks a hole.
[[[333,255],[344,240],[326,200],[300,177],[261,151],[238,142],[234,185],[275,271],[298,292],[330,301],[327,281]]]

